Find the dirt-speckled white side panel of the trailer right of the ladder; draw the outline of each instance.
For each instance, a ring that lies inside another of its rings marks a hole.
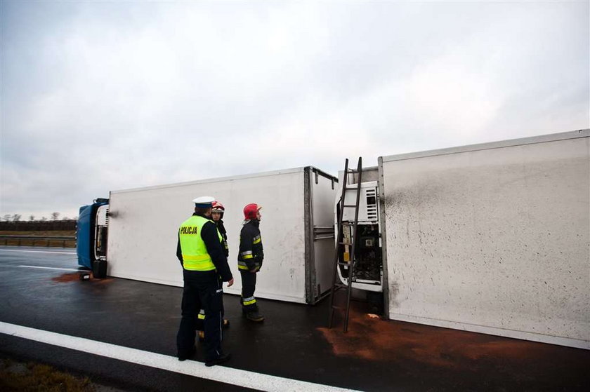
[[[589,136],[380,158],[390,318],[590,349]]]

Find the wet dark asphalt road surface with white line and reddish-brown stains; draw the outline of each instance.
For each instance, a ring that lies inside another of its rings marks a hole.
[[[242,318],[239,299],[225,295],[232,324],[224,349],[232,360],[204,367],[198,350],[194,360],[179,363],[181,288],[119,278],[79,281],[77,269],[71,249],[0,247],[1,355],[125,391],[237,391],[244,385],[277,391],[590,390],[590,351],[380,320],[363,304],[355,304],[343,334],[325,328],[327,301],[306,306],[261,299],[266,319],[254,325]],[[45,343],[6,332],[19,327],[34,329],[25,332],[38,332]],[[44,340],[50,337],[53,344]]]

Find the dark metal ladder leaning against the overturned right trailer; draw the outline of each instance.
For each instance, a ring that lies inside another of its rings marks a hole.
[[[347,187],[347,179],[349,174],[358,173],[358,180],[355,187]],[[353,291],[353,278],[354,278],[354,271],[355,271],[355,246],[356,246],[356,228],[358,225],[358,205],[360,201],[360,184],[362,180],[362,157],[358,158],[358,165],[356,170],[348,169],[348,158],[344,163],[344,179],[342,182],[342,196],[338,203],[336,210],[338,211],[338,224],[336,225],[336,252],[334,252],[334,272],[332,274],[332,289],[330,290],[330,307],[329,307],[329,319],[328,319],[328,327],[332,328],[332,322],[334,321],[334,310],[342,309],[339,306],[334,306],[334,293],[341,288],[346,288],[346,316],[344,317],[344,327],[343,332],[348,331],[348,314],[350,313],[350,293]],[[356,202],[355,204],[345,204],[345,196],[347,190],[356,190]],[[344,215],[345,208],[354,208],[355,209],[355,220],[352,223],[343,223],[342,217]],[[346,243],[343,238],[343,227],[350,227],[350,237],[351,242]],[[339,248],[340,245],[349,245],[350,246],[350,257],[348,261],[340,260],[340,252]],[[348,266],[348,285],[343,285],[342,283],[336,283],[338,267],[339,266]]]

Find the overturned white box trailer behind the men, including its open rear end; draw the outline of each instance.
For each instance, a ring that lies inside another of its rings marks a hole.
[[[111,191],[108,275],[183,285],[176,259],[178,227],[192,213],[197,196],[214,196],[225,205],[228,262],[240,294],[237,251],[242,209],[262,205],[264,264],[256,296],[315,304],[331,285],[334,259],[332,205],[338,179],[317,168],[224,177],[159,187]]]

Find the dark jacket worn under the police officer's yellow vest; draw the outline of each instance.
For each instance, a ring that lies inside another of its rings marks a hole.
[[[192,215],[199,215],[199,217],[209,219],[196,212]],[[216,269],[213,271],[189,271],[183,269],[184,278],[190,278],[192,281],[211,281],[212,279],[216,279],[217,276],[221,276],[222,281],[231,281],[233,276],[232,271],[230,271],[230,266],[228,265],[228,257],[225,256],[225,253],[223,252],[223,245],[219,242],[219,236],[217,235],[217,226],[213,221],[209,220],[209,222],[205,222],[201,229],[201,238],[205,243],[207,253],[211,256],[211,260],[213,260]],[[176,245],[176,257],[178,257],[178,260],[183,264],[180,235],[178,235],[178,244]]]

